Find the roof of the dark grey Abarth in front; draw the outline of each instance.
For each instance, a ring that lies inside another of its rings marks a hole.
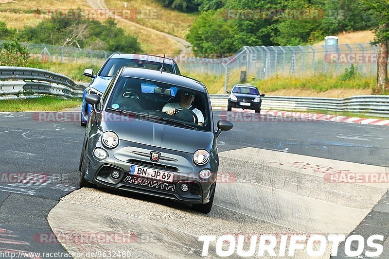
[[[205,87],[200,81],[156,69],[125,67],[121,76],[153,80],[171,85],[188,87],[199,92],[206,92]]]

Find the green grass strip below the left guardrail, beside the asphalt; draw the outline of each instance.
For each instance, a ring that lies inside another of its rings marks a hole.
[[[0,111],[60,111],[81,105],[80,98],[62,99],[44,96],[35,99],[3,100],[0,101]]]

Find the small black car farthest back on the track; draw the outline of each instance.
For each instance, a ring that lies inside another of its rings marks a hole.
[[[256,86],[251,85],[235,85],[231,91],[227,91],[230,94],[228,97],[227,110],[231,108],[242,108],[255,110],[256,113],[261,113],[262,99],[265,94],[260,94]]]

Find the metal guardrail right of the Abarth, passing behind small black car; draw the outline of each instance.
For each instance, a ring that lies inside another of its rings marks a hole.
[[[228,95],[212,95],[211,103],[213,106],[227,107]],[[280,110],[328,110],[334,112],[346,111],[389,118],[389,96],[360,95],[349,98],[265,96],[262,98],[261,108]]]

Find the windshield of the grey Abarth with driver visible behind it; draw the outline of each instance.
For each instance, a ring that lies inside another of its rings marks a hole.
[[[212,130],[206,93],[185,86],[121,77],[106,107],[108,111],[130,112],[158,123]]]

